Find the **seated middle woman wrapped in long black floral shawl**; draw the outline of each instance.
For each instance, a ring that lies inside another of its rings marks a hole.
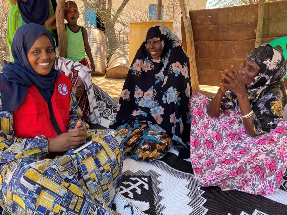
[[[151,27],[131,64],[110,126],[124,137],[124,152],[138,161],[153,161],[173,142],[188,149],[190,95],[189,59],[181,40],[165,25]]]

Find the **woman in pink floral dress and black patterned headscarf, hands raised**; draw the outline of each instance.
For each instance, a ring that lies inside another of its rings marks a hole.
[[[259,195],[277,191],[287,167],[285,73],[283,54],[263,44],[241,69],[226,70],[212,100],[191,96],[190,152],[198,185]]]

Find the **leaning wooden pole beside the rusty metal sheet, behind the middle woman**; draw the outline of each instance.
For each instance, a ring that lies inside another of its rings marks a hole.
[[[197,68],[195,63],[195,50],[194,50],[194,40],[193,40],[193,32],[192,25],[189,16],[189,12],[187,10],[186,1],[179,0],[181,14],[183,17],[183,24],[186,34],[186,46],[187,46],[187,55],[189,57],[190,62],[190,78],[192,84],[192,91],[199,92],[199,82],[197,76]]]

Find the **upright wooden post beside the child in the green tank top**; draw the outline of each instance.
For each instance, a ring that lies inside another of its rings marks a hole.
[[[66,29],[65,29],[65,0],[57,0],[56,9],[56,24],[59,39],[59,56],[67,58],[67,41],[66,41]]]

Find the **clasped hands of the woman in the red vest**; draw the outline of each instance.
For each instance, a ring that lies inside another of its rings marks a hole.
[[[84,127],[83,127],[84,128]],[[62,133],[54,138],[49,139],[49,152],[66,152],[70,149],[77,148],[86,142],[85,128],[71,129],[69,132]]]

